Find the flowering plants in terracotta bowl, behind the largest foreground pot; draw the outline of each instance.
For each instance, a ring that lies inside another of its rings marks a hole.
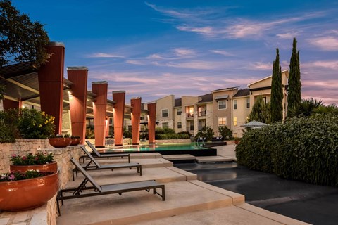
[[[57,172],[58,164],[54,161],[53,153],[27,153],[24,156],[12,155],[12,165],[9,166],[11,171],[26,172],[29,169],[38,169],[45,172]]]

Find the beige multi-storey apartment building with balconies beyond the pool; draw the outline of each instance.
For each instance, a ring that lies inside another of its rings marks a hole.
[[[282,71],[283,118],[287,112],[287,80],[289,71]],[[158,127],[169,127],[175,132],[188,131],[194,136],[205,126],[213,129],[215,136],[219,126],[227,126],[233,136],[243,133],[242,124],[246,123],[257,96],[262,95],[270,102],[272,76],[248,84],[248,89],[230,87],[217,89],[203,96],[173,95],[156,100],[156,121]]]

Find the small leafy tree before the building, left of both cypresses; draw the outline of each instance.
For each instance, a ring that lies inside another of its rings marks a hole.
[[[258,96],[252,106],[248,122],[256,120],[265,124],[270,124],[270,103],[263,101],[263,96]]]

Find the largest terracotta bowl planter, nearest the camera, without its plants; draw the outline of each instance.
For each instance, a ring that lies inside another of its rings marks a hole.
[[[30,210],[44,205],[57,191],[57,173],[34,179],[0,182],[0,209]]]

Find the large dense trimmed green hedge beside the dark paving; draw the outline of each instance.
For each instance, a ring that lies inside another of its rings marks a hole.
[[[247,131],[237,162],[285,179],[338,186],[338,117],[289,118]]]

